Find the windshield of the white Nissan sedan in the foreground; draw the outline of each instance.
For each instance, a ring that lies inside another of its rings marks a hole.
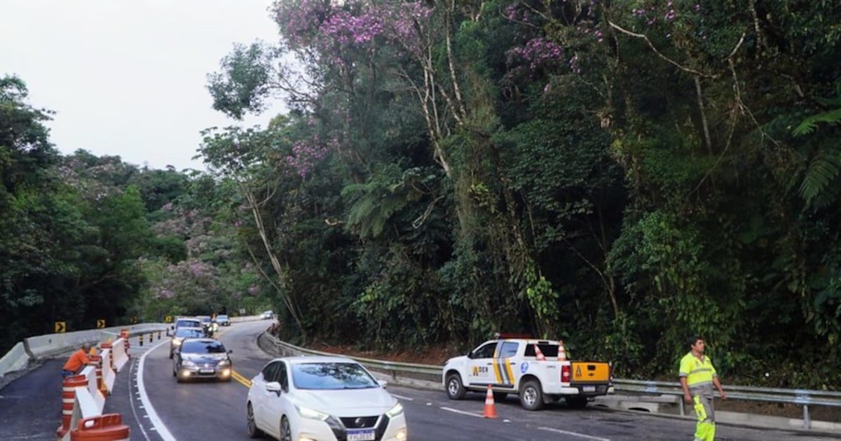
[[[292,365],[292,381],[298,389],[367,389],[379,386],[358,363]]]

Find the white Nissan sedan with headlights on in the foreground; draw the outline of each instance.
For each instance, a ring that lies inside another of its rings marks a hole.
[[[345,357],[284,357],[251,380],[247,428],[281,440],[404,441],[403,406]]]

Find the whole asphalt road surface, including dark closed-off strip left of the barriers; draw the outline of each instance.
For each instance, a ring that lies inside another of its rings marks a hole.
[[[228,349],[237,373],[250,379],[271,360],[257,347],[257,335],[267,322],[235,323],[217,337]],[[246,386],[238,381],[177,383],[172,377],[168,342],[156,340],[133,346],[129,374],[120,373],[106,412],[122,413],[132,427],[132,439],[146,441],[247,439]],[[61,408],[59,361],[14,381],[0,391],[0,438],[49,439],[55,436]],[[55,375],[54,375],[55,374]],[[390,385],[389,391],[405,407],[409,438],[442,440],[674,440],[690,439],[694,423],[687,419],[658,417],[587,407],[568,409],[552,405],[540,412],[522,409],[516,397],[497,402],[497,419],[481,417],[484,396],[468,395],[450,401],[443,390],[427,391]],[[40,409],[40,411],[39,411]],[[45,411],[46,409],[46,411]],[[8,423],[7,423],[8,422]],[[49,436],[47,436],[49,435]],[[828,438],[812,434],[739,428],[719,424],[717,440],[765,441]]]

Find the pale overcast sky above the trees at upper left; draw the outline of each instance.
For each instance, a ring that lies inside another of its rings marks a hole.
[[[270,0],[0,0],[0,76],[56,112],[50,140],[163,169],[204,170],[199,132],[266,126],[275,102],[237,122],[213,109],[208,73],[234,43],[277,40]]]

